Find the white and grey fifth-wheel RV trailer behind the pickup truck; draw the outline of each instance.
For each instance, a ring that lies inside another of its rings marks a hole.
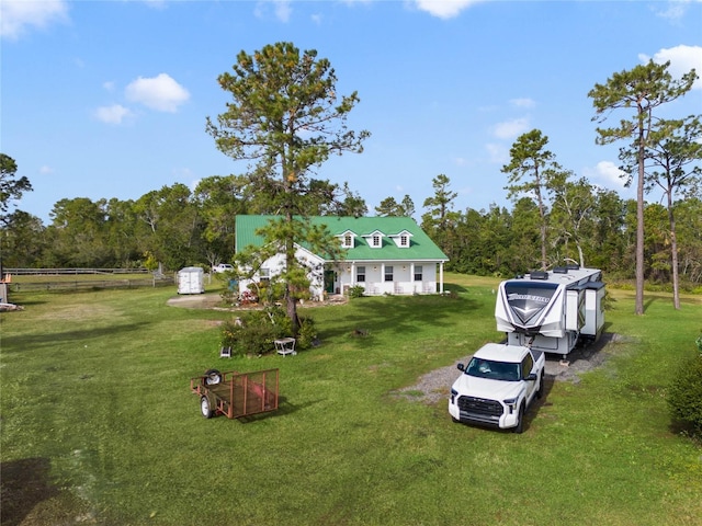
[[[578,265],[533,271],[500,283],[495,319],[509,345],[526,345],[565,358],[604,327],[602,271]]]

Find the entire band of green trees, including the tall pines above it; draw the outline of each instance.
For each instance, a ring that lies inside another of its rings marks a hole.
[[[626,181],[635,181],[636,199],[624,201],[562,167],[547,149],[547,136],[533,129],[514,141],[502,167],[510,208],[492,204],[487,210],[456,210],[449,176],[432,179],[434,194],[423,201],[419,222],[450,258],[446,270],[510,276],[577,263],[635,278],[637,300],[644,278],[672,283],[676,299],[679,282],[699,286],[700,116],[656,117],[658,106],[683,96],[697,75],[692,70],[672,79],[668,66],[649,61],[614,73],[589,93],[600,124],[614,112],[629,112],[616,127],[598,128],[596,140],[624,142],[621,168],[636,175]],[[338,95],[336,80],[328,60],[315,50],[301,54],[291,43],[241,52],[231,72],[218,78],[231,102],[216,119],[207,117],[206,130],[222,152],[251,162],[248,173],[210,176],[193,191],[177,183],[135,201],[64,198],[46,226],[21,209],[9,211],[9,203],[32,187],[16,175],[16,162],[0,155],[2,266],[178,270],[234,262],[235,216],[240,214],[284,217],[262,233],[290,258],[294,242],[330,249],[328,232],[313,231],[295,218],[369,215],[365,201],[348,183],[316,178],[315,170],[331,153],[362,152],[370,136],[346,128],[359,98],[355,92]],[[655,187],[665,203],[645,201]],[[415,217],[412,199],[396,197],[383,199],[373,214]],[[299,276],[290,263],[293,283]]]

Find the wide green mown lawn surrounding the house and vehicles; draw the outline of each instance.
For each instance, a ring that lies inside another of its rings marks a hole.
[[[501,336],[497,281],[446,282],[456,295],[307,309],[321,345],[230,361],[231,313],[169,307],[174,288],[12,296],[25,310],[0,315],[2,525],[702,524],[702,449],[665,400],[702,331],[699,297],[676,311],[647,294],[635,317],[633,293],[611,290],[605,330],[622,338],[604,365],[550,382],[514,435],[394,395]],[[211,367],[279,367],[281,408],[203,419],[189,378]]]

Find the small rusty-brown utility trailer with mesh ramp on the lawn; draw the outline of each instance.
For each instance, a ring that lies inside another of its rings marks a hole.
[[[200,411],[205,419],[224,414],[240,419],[278,409],[279,369],[219,373],[210,369],[190,379],[190,390],[200,397]]]

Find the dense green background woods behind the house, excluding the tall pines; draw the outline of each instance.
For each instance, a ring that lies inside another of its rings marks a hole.
[[[585,178],[548,187],[542,207],[531,196],[513,206],[456,210],[451,180],[432,180],[434,194],[423,201],[420,226],[444,251],[446,270],[467,274],[510,276],[565,263],[602,268],[608,275],[633,278],[636,202],[598,188]],[[329,201],[309,203],[309,215],[369,214],[365,202],[347,186],[319,182]],[[312,201],[312,199],[310,199]],[[52,222],[22,210],[3,218],[2,264],[5,267],[154,267],[168,270],[230,262],[235,248],[235,216],[274,214],[258,188],[244,175],[203,179],[194,191],[177,183],[136,201],[87,197],[58,201]],[[408,215],[404,204],[387,197],[375,214]],[[543,208],[547,211],[544,214]],[[691,185],[673,204],[677,261],[682,281],[702,283],[702,194]],[[646,278],[671,283],[672,254],[668,209],[644,208]],[[545,232],[545,243],[544,240]],[[544,265],[545,258],[545,265]]]

